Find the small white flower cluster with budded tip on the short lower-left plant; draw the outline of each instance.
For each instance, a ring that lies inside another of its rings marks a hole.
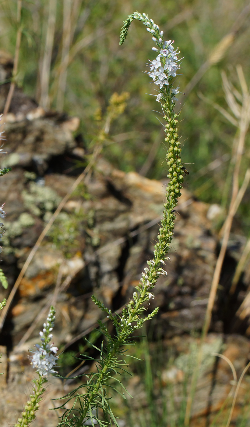
[[[32,351],[34,354],[31,357],[31,364],[36,372],[38,372],[42,377],[56,373],[53,368],[56,366],[56,361],[58,360],[58,356],[56,356],[58,348],[49,345],[49,341],[52,338],[51,331],[54,327],[54,320],[55,309],[54,307],[51,307],[49,316],[47,317],[47,322],[44,323],[44,329],[40,332],[42,345],[36,344],[36,350]]]

